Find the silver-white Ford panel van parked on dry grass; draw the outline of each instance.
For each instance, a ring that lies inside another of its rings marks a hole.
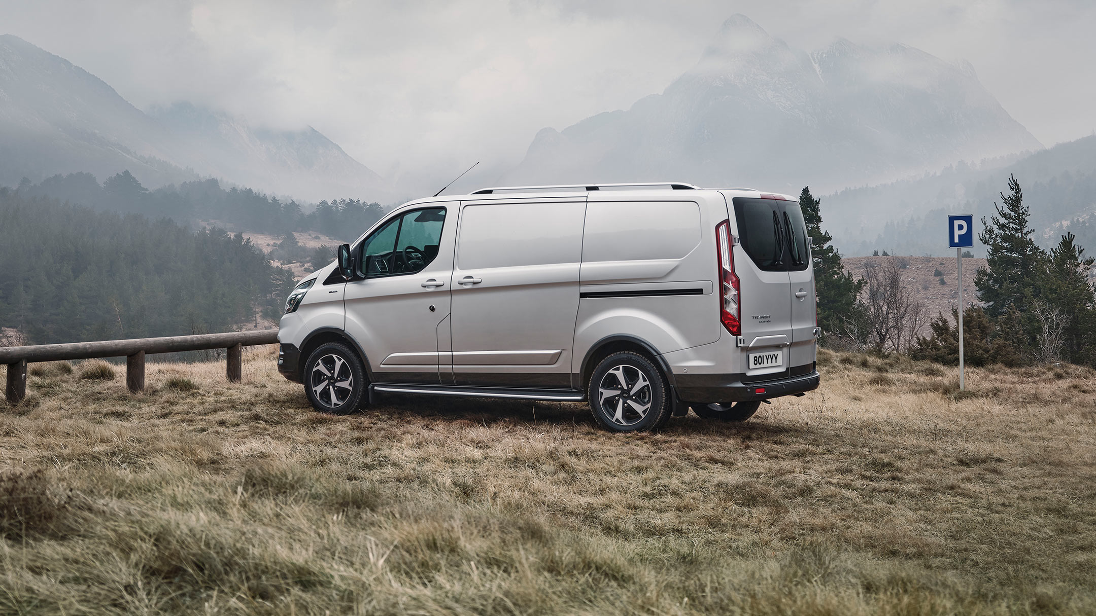
[[[819,386],[792,197],[689,184],[495,187],[390,212],[289,295],[278,369],[376,391],[589,400],[603,426],[741,421]]]

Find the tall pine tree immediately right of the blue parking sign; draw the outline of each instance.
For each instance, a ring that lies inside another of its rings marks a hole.
[[[993,204],[996,215],[990,217],[990,223],[982,218],[985,230],[978,236],[987,247],[986,267],[974,274],[974,286],[992,319],[1001,318],[1009,308],[1025,312],[1039,295],[1040,273],[1047,260],[1031,237],[1035,229],[1028,227],[1024,192],[1013,175],[1008,176],[1008,195],[1001,193],[1003,205]]]

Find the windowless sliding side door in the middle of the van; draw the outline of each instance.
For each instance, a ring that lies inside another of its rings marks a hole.
[[[457,385],[571,388],[585,198],[461,204],[453,267]]]

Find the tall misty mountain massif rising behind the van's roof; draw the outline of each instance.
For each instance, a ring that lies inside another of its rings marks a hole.
[[[734,15],[662,94],[562,132],[541,129],[507,180],[676,180],[798,193],[1041,147],[969,64],[845,39],[807,54]]]

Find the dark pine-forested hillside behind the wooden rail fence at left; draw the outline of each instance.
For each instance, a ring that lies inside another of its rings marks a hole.
[[[0,189],[0,328],[31,344],[226,331],[277,319],[293,273],[242,235]]]

